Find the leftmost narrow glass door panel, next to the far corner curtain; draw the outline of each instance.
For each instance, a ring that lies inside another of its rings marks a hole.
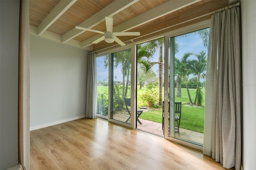
[[[97,116],[108,119],[108,55],[98,56],[97,65]]]

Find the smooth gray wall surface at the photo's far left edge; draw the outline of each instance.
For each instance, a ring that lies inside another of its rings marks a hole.
[[[0,0],[0,170],[18,165],[19,0]]]

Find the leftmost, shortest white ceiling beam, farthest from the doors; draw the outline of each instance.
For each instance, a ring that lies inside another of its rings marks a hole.
[[[61,0],[53,10],[44,18],[41,24],[37,28],[37,34],[40,36],[43,34],[66,10],[72,6],[76,0]]]

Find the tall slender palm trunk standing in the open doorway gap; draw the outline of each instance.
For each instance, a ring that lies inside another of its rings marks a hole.
[[[164,57],[163,57],[163,45],[160,44],[160,52],[158,57],[158,71],[159,71],[159,99],[158,99],[158,105],[162,106],[163,103],[163,77],[164,77]]]

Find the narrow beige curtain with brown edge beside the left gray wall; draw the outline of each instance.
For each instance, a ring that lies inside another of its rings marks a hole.
[[[30,168],[30,40],[29,1],[20,2],[18,148],[23,169]]]

